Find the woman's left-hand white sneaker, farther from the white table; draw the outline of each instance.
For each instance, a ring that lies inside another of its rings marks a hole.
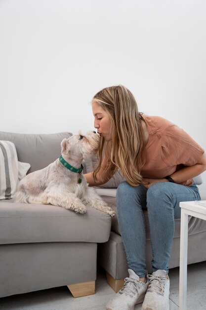
[[[133,310],[135,305],[143,302],[149,280],[145,283],[139,281],[132,269],[128,269],[128,273],[123,288],[107,303],[106,310]]]

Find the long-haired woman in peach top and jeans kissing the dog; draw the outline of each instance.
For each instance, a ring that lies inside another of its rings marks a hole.
[[[118,168],[126,181],[117,190],[117,215],[129,266],[129,277],[107,310],[169,309],[168,262],[174,218],[181,201],[200,200],[193,177],[206,170],[204,150],[182,129],[158,116],[138,112],[124,86],[98,92],[92,100],[94,127],[101,136],[99,162],[85,174],[90,186],[107,182]],[[148,210],[152,273],[145,263]]]

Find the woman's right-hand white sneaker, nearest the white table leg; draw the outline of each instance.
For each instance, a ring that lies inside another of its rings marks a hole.
[[[149,286],[142,310],[169,310],[169,278],[165,270],[148,274]]]

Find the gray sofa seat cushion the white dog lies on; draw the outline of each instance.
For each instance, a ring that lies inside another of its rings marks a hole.
[[[0,244],[106,242],[111,217],[92,207],[77,214],[63,207],[0,201]]]

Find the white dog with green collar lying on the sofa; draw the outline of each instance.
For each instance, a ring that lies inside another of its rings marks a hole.
[[[94,132],[74,135],[61,142],[61,155],[47,167],[34,171],[18,185],[14,201],[54,205],[85,213],[91,206],[110,216],[115,211],[88,187],[82,174],[82,159],[97,153],[100,137]]]

